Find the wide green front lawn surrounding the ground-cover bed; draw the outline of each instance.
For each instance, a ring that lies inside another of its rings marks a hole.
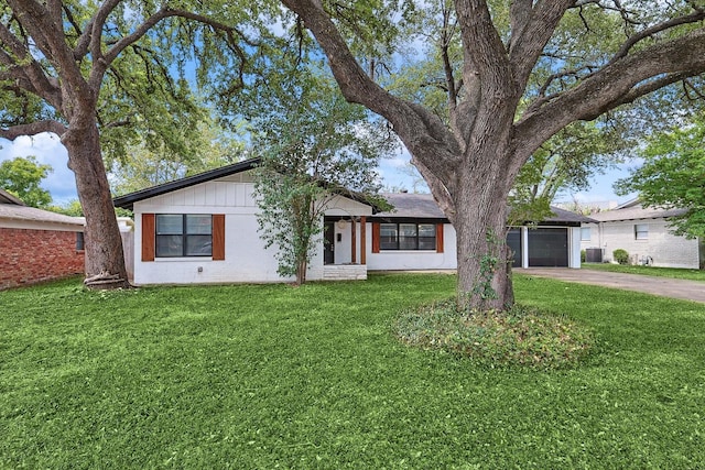
[[[449,275],[0,293],[0,468],[702,468],[705,305],[516,276],[587,363],[491,369],[397,341]]]

